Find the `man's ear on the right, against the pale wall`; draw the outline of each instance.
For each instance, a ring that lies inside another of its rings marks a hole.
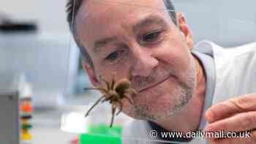
[[[193,34],[192,30],[189,28],[189,25],[186,21],[185,15],[183,12],[176,12],[177,16],[177,22],[178,22],[178,28],[184,34],[185,40],[187,42],[187,46],[189,47],[190,50],[192,50],[193,45],[194,45],[194,40],[193,40]]]

